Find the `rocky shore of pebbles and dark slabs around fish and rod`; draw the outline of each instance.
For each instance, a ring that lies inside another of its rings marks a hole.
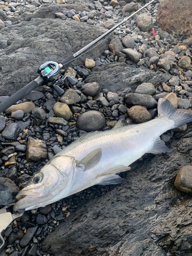
[[[59,63],[145,2],[2,1],[0,102],[35,79],[42,63]],[[45,83],[0,114],[1,207],[88,132],[111,129],[119,119],[156,118],[159,98],[192,113],[191,32],[159,27],[166,2],[155,1],[61,70],[68,75],[63,95]],[[144,155],[121,174],[121,185],[90,187],[26,211],[8,227],[2,255],[190,255],[191,196],[174,181],[191,164],[191,129],[163,134],[172,152]]]

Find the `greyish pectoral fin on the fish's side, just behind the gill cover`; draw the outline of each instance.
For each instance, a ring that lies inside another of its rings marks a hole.
[[[97,148],[96,150],[88,154],[86,157],[84,157],[78,163],[77,167],[84,165],[83,170],[91,169],[99,163],[99,161],[101,160],[101,156],[102,156],[101,148]]]

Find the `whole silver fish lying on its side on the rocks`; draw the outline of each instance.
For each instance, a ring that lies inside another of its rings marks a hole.
[[[80,137],[57,153],[19,191],[13,210],[46,206],[96,184],[125,182],[118,173],[145,153],[170,152],[160,135],[192,121],[167,100],[158,101],[158,117],[141,124],[127,125],[120,119],[112,130]]]

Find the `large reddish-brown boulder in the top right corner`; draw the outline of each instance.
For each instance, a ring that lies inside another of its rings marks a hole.
[[[180,0],[162,0],[158,8],[158,25],[169,33],[190,35],[192,34],[192,28],[189,27],[192,23],[191,11],[190,0],[184,3]]]

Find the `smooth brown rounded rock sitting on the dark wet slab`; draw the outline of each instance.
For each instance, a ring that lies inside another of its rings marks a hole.
[[[175,180],[175,186],[178,190],[192,193],[192,166],[185,165],[179,169]]]

